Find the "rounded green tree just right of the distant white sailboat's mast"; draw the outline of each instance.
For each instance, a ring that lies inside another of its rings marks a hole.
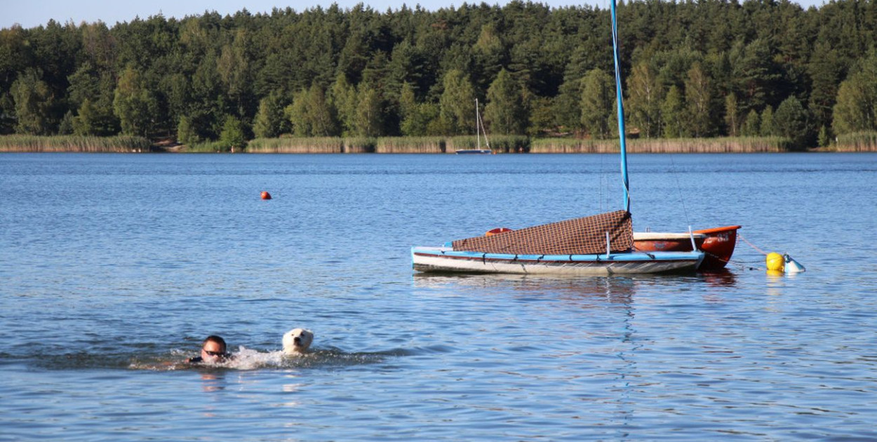
[[[509,71],[499,71],[488,89],[488,103],[484,109],[484,120],[490,126],[490,132],[523,134],[526,132],[527,118],[520,87]]]

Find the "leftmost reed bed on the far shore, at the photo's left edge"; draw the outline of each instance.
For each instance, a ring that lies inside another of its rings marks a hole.
[[[116,137],[84,137],[77,135],[58,135],[43,137],[37,135],[0,136],[0,152],[113,152],[139,153],[153,152],[153,144],[143,137],[118,135]]]

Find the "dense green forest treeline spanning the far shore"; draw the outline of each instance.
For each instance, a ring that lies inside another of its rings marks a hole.
[[[618,8],[640,138],[877,129],[877,5],[636,1]],[[610,14],[511,2],[378,12],[160,15],[0,30],[0,133],[246,139],[615,131]]]

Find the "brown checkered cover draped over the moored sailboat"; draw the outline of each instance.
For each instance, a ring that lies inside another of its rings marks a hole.
[[[453,241],[453,250],[509,254],[606,253],[606,232],[610,234],[612,252],[630,250],[633,246],[631,214],[617,210],[498,235],[458,239]]]

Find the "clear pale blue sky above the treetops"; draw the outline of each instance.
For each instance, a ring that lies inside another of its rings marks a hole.
[[[272,8],[286,8],[287,6],[296,11],[303,11],[314,6],[329,6],[337,3],[341,8],[351,8],[356,4],[367,4],[375,11],[387,11],[388,8],[399,9],[404,0],[306,0],[296,3],[278,3],[277,0],[153,0],[130,2],[125,0],[0,0],[0,27],[8,28],[18,23],[22,27],[30,28],[45,25],[50,18],[61,24],[73,20],[75,24],[81,22],[103,21],[107,25],[115,25],[116,22],[131,21],[135,17],[148,18],[161,13],[166,18],[183,18],[187,15],[201,15],[204,11],[217,11],[222,15],[233,14],[246,8],[255,14],[257,12],[270,12]],[[804,8],[811,5],[822,5],[823,0],[795,0]],[[481,1],[464,2],[462,0],[421,0],[419,2],[404,2],[409,7],[420,4],[424,9],[435,11],[439,8],[459,6],[463,3],[481,4]],[[507,4],[508,0],[486,1],[487,4]],[[601,8],[609,7],[609,0],[544,0],[541,2],[554,7],[592,4]]]

